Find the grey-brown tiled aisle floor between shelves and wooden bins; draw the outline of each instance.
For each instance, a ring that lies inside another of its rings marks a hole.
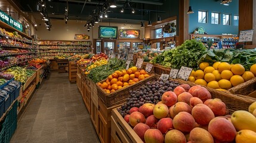
[[[100,142],[90,114],[67,73],[51,73],[18,118],[13,142]]]

